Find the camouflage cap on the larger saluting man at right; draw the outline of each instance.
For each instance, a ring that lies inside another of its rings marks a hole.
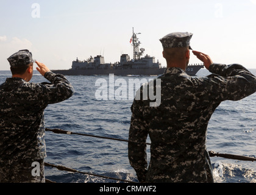
[[[185,48],[190,47],[190,39],[193,34],[190,32],[172,32],[160,38],[163,48]]]

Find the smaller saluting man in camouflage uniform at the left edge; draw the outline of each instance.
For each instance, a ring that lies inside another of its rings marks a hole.
[[[21,50],[7,59],[12,77],[0,85],[0,182],[45,182],[44,108],[70,98],[73,87],[61,74],[35,61],[51,83],[30,83],[32,54]],[[40,165],[40,176],[37,164]]]

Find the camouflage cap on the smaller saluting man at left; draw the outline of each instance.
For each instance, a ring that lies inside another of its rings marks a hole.
[[[32,53],[27,49],[23,49],[16,52],[15,54],[12,54],[7,60],[9,61],[10,66],[13,68],[18,66],[25,66],[35,62],[35,60],[32,59]]]

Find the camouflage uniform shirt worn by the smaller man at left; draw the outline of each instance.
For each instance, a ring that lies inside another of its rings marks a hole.
[[[51,83],[12,77],[0,85],[0,181],[7,174],[4,167],[20,161],[31,166],[46,157],[44,108],[74,93],[65,76],[47,72],[44,77]]]

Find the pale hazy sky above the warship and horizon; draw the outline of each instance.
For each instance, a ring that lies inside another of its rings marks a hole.
[[[132,27],[144,54],[163,66],[159,39],[191,32],[191,47],[213,62],[256,68],[255,24],[256,0],[0,0],[0,70],[20,49],[50,69],[69,69],[90,55],[104,55],[106,63],[132,58]],[[190,62],[200,63],[194,56]]]

